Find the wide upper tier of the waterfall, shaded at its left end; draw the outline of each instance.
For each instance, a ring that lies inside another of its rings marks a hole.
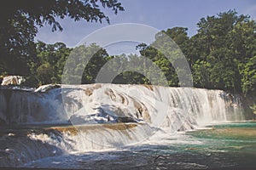
[[[0,90],[0,118],[53,124],[143,121],[153,127],[173,126],[175,120],[204,125],[244,119],[239,98],[222,90],[119,84],[46,89]]]

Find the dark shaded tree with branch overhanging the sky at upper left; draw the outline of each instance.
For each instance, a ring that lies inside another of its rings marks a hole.
[[[52,26],[52,31],[62,27],[59,19],[69,17],[75,21],[100,21],[109,18],[102,12],[111,8],[115,14],[124,10],[117,0],[9,0],[0,6],[0,71],[27,75],[26,63],[34,54],[34,37],[38,27]],[[12,66],[11,66],[12,65]],[[15,66],[13,66],[15,65]]]

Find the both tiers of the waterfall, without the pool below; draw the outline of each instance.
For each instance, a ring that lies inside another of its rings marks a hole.
[[[156,130],[185,131],[212,122],[244,118],[239,98],[221,90],[90,84],[61,88],[49,85],[36,90],[2,89],[0,119],[9,125],[54,124],[28,130],[22,136],[19,150],[29,155],[26,161],[31,161],[32,153],[26,150],[28,143],[30,150],[37,150],[33,147],[38,144],[49,144],[48,155],[45,150],[38,150],[41,154],[34,159],[39,159],[53,153],[136,144]],[[68,126],[56,127],[60,123]],[[17,139],[16,134],[1,138],[0,149],[8,155],[10,151],[6,148],[12,146],[6,144],[6,139]],[[20,159],[19,150],[9,156]],[[15,161],[15,164],[26,161]]]

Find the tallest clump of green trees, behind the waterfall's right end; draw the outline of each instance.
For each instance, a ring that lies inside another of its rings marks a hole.
[[[202,18],[197,26],[198,33],[189,39],[195,84],[240,93],[241,77],[247,75],[243,66],[256,51],[255,21],[230,10]]]

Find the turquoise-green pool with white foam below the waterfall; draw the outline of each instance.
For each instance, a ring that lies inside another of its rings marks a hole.
[[[256,123],[214,125],[116,150],[73,152],[23,167],[93,169],[245,169],[256,167]]]

